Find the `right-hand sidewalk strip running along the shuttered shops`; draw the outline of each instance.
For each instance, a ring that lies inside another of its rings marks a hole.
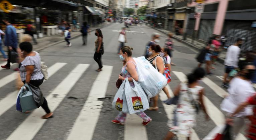
[[[156,29],[166,35],[168,35],[168,33],[170,33],[170,31],[168,30],[164,30],[164,29],[161,29],[161,28],[156,28],[156,27],[152,27],[152,26],[149,26],[153,29]],[[173,33],[173,38],[178,40],[179,42],[182,42],[190,47],[194,47],[196,50],[200,51],[201,49],[203,49],[204,47],[206,47],[206,44],[205,43],[201,43],[201,42],[198,42],[198,41],[194,41],[194,44],[192,44],[192,39],[191,38],[186,38],[186,40],[183,40],[183,36],[182,35],[176,35],[175,33]],[[175,46],[175,45],[174,45]],[[225,56],[226,56],[226,50],[222,50],[219,54],[219,62],[221,63],[224,63],[224,60],[225,60]]]

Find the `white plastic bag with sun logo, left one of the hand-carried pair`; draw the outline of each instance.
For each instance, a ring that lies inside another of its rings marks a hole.
[[[129,84],[128,79],[125,79],[117,90],[114,100],[112,102],[112,107],[116,108],[118,111],[128,113],[127,103],[125,99],[125,83]]]

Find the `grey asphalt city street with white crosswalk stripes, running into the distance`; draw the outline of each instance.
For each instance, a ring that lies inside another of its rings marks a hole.
[[[112,101],[117,92],[116,80],[121,72],[122,61],[117,55],[119,46],[119,30],[124,24],[112,23],[102,28],[105,53],[102,56],[104,65],[101,72],[93,56],[95,52],[94,32],[88,36],[87,46],[82,46],[82,37],[71,40],[71,47],[64,47],[65,42],[50,46],[39,51],[41,61],[48,67],[50,78],[40,86],[48,101],[54,117],[41,119],[45,113],[40,107],[30,113],[15,111],[17,89],[15,79],[17,72],[0,70],[0,139],[1,140],[162,140],[168,132],[168,118],[172,118],[174,105],[166,105],[162,101],[167,97],[160,92],[159,111],[146,110],[152,118],[147,126],[142,126],[142,120],[135,114],[128,115],[124,126],[113,124],[111,120],[118,114],[112,108]],[[145,45],[152,33],[161,34],[159,45],[164,46],[166,35],[146,26],[133,25],[127,31],[126,46],[133,47],[133,57],[143,56]],[[72,33],[71,33],[72,34]],[[171,68],[172,81],[168,84],[169,92],[186,80],[186,74],[191,72],[198,63],[195,57],[198,50],[186,46],[176,40]],[[5,62],[1,62],[5,64]],[[205,66],[203,66],[205,67]],[[227,90],[222,88],[224,65],[217,63],[212,75],[202,80],[205,87],[204,101],[210,120],[205,119],[201,110],[197,117],[197,126],[193,129],[191,140],[204,138],[213,128],[224,124],[224,112],[220,104]],[[243,133],[245,134],[245,133]],[[240,134],[238,140],[246,140]],[[179,140],[185,138],[178,136]]]

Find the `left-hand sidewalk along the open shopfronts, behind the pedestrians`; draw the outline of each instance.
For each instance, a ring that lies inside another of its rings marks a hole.
[[[101,25],[98,25],[98,26],[90,28],[90,30],[91,30],[91,32],[93,32],[96,29],[103,28],[103,27],[106,27],[108,25],[111,25],[111,23],[102,23]],[[77,31],[72,31],[71,32],[71,39],[77,38],[79,36],[81,36],[80,29],[78,29]],[[41,50],[43,50],[45,48],[48,48],[50,46],[53,46],[55,44],[59,44],[61,42],[65,42],[65,39],[59,33],[59,34],[55,34],[55,35],[51,35],[51,36],[44,35],[44,37],[39,38],[36,41],[37,41],[38,44],[37,45],[33,45],[33,50],[34,51],[41,51]],[[7,47],[2,46],[2,48],[5,51],[5,53],[7,54]],[[0,54],[0,57],[2,57],[2,54]]]

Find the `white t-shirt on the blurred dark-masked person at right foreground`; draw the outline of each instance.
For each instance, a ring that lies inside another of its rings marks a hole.
[[[255,90],[251,81],[243,80],[235,77],[230,81],[230,87],[228,88],[229,96],[226,97],[221,103],[221,109],[223,111],[234,113],[236,108],[243,102],[247,101],[249,97],[255,94]],[[236,117],[244,117],[252,115],[252,107],[247,106],[244,110],[237,113]]]

